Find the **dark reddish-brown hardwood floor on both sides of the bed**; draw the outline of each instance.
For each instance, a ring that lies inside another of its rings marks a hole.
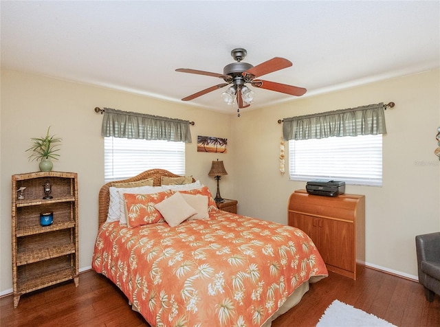
[[[333,300],[360,308],[399,327],[440,326],[440,297],[426,301],[417,282],[365,268],[354,281],[336,273],[316,284],[274,327],[316,326]],[[66,282],[21,297],[0,299],[0,326],[148,326],[107,278],[87,271],[80,284]]]

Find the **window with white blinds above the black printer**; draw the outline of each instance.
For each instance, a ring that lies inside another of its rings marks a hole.
[[[289,141],[289,177],[382,186],[382,135]]]

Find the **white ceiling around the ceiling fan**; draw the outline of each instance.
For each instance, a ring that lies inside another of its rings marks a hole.
[[[440,65],[440,1],[1,1],[1,67],[235,113],[220,78],[244,62],[294,64],[263,76],[303,97]],[[296,97],[254,89],[248,109]],[[377,99],[378,102],[386,99]],[[111,106],[111,103],[97,104]]]

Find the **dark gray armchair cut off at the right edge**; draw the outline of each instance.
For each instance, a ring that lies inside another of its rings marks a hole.
[[[440,232],[415,237],[419,282],[425,288],[426,300],[440,295]]]

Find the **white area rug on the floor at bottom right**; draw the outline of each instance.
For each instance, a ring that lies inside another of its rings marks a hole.
[[[392,327],[384,319],[380,319],[375,315],[366,313],[358,308],[354,308],[349,304],[334,300],[330,306],[325,309],[324,315],[320,317],[316,327]],[[395,326],[394,326],[395,327]]]

